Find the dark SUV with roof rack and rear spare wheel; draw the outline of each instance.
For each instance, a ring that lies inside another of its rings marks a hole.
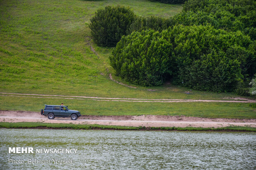
[[[41,114],[48,116],[48,119],[55,117],[70,117],[71,120],[76,120],[81,116],[77,110],[69,110],[68,106],[61,105],[45,105],[45,109],[41,109]]]

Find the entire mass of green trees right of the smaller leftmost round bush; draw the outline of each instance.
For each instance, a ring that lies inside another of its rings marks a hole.
[[[170,19],[130,17],[111,66],[143,86],[171,79],[198,90],[246,94],[256,73],[255,9],[254,0],[188,0]]]

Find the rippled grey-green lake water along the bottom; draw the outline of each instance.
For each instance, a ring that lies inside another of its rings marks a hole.
[[[0,129],[0,143],[5,170],[256,169],[256,133]],[[34,153],[9,153],[9,147],[33,147]],[[77,150],[46,154],[36,149]]]

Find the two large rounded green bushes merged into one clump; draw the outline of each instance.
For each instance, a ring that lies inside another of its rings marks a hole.
[[[175,84],[189,88],[233,91],[250,69],[252,47],[240,31],[178,25],[122,37],[110,61],[118,76],[134,84],[159,85],[171,75]]]

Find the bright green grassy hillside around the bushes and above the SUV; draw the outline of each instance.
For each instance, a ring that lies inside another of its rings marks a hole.
[[[181,5],[148,0],[1,0],[0,92],[205,100],[237,96],[194,90],[187,95],[184,92],[190,91],[188,88],[168,83],[158,87],[135,86],[115,77],[108,59],[112,49],[95,45],[89,29],[95,11],[107,5],[125,5],[136,15],[164,18],[182,10]],[[137,88],[111,81],[109,73],[117,81]],[[44,104],[61,102],[83,114],[256,118],[256,110],[246,103],[134,103],[0,96],[0,109],[39,112]]]

